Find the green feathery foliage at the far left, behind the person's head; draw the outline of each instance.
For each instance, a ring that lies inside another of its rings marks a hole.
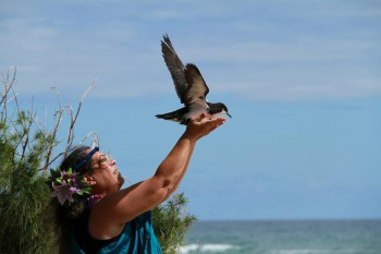
[[[0,253],[54,253],[53,209],[39,166],[56,142],[32,132],[33,116],[0,122]]]

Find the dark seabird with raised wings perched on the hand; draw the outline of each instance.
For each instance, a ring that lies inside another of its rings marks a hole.
[[[172,112],[156,114],[157,118],[171,120],[184,125],[188,124],[192,119],[198,118],[201,113],[211,114],[212,119],[221,114],[228,114],[232,118],[224,104],[207,101],[209,87],[204,81],[200,71],[194,63],[187,63],[184,66],[167,34],[161,40],[161,51],[180,101],[185,107]]]

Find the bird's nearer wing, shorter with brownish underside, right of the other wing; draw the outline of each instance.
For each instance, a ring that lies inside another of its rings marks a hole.
[[[209,93],[209,88],[205,83],[201,73],[195,64],[186,64],[185,80],[189,86],[186,94],[185,105],[189,106],[192,104],[197,104],[204,106],[205,108],[208,108],[206,98],[207,94]]]

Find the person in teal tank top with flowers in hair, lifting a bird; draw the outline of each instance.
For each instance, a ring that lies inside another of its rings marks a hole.
[[[67,251],[66,235],[70,234],[70,253],[161,253],[152,229],[151,209],[177,189],[196,142],[225,122],[223,118],[209,117],[202,113],[190,121],[156,173],[124,190],[121,190],[124,179],[115,160],[96,148],[79,147],[67,156],[60,167],[65,172],[60,182],[82,176],[91,188],[91,196],[72,202],[69,196],[67,204],[60,206],[61,252]],[[74,177],[69,176],[70,168],[74,170]],[[54,184],[53,188],[58,190]],[[78,193],[78,189],[72,192]],[[65,202],[62,195],[56,195],[60,202]]]

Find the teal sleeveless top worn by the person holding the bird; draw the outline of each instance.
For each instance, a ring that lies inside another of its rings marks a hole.
[[[86,231],[88,233],[87,220],[88,219],[86,218]],[[82,227],[82,230],[83,228],[84,227]],[[88,233],[88,238],[91,238],[96,243],[102,242],[98,252],[86,252],[83,250],[77,242],[74,230],[75,227],[72,228],[71,233],[71,254],[162,254],[160,243],[153,232],[151,210],[148,210],[125,223],[122,233],[116,237],[115,240],[105,240],[103,242],[93,239]]]

